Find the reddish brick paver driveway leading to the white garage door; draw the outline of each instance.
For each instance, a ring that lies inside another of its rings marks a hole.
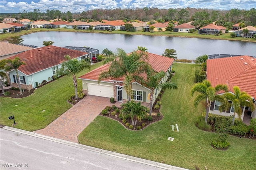
[[[120,102],[116,102],[114,105],[120,107],[120,104]],[[77,143],[78,134],[80,134],[107,105],[113,105],[110,103],[109,98],[87,95],[50,125],[34,132]]]

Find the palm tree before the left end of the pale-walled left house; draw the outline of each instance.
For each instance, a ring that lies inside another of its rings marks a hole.
[[[15,59],[7,59],[6,60],[6,66],[5,66],[6,71],[11,71],[12,69],[15,69],[21,95],[22,95],[22,90],[21,90],[21,85],[20,85],[20,76],[18,74],[18,68],[21,65],[25,65],[25,64],[26,63],[23,61],[23,59],[20,59],[19,57],[16,57]]]

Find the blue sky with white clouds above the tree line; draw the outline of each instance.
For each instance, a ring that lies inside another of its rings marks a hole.
[[[19,13],[34,9],[60,10],[61,12],[83,12],[94,9],[114,8],[208,8],[250,10],[256,8],[256,0],[0,0],[1,13]]]

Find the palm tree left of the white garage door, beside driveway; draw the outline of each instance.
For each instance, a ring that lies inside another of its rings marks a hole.
[[[73,77],[73,84],[75,87],[75,94],[76,99],[78,99],[77,96],[77,79],[76,75],[83,71],[84,69],[90,69],[90,63],[86,62],[86,60],[81,59],[71,59],[70,55],[65,55],[64,58],[66,61],[62,63],[62,67],[56,70],[56,74],[54,77],[58,79],[61,75],[72,75]]]

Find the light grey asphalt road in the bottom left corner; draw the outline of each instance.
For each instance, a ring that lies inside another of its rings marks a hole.
[[[0,169],[162,170],[10,130],[0,129]]]

